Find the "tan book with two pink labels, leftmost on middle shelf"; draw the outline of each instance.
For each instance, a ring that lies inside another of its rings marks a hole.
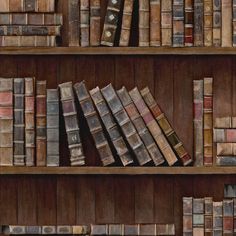
[[[0,166],[13,166],[13,79],[0,78]]]

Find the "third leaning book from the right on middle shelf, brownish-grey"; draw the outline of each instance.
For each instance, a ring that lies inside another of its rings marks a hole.
[[[143,118],[139,114],[136,106],[134,105],[127,89],[123,86],[120,90],[117,91],[117,94],[124,106],[128,116],[132,120],[137,132],[139,133],[141,139],[143,140],[154,164],[156,166],[164,163],[165,159],[160,152],[155,140],[153,139],[151,133],[143,121]]]

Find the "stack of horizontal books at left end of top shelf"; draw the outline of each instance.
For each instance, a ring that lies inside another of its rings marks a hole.
[[[62,24],[55,0],[0,1],[0,46],[57,46]]]

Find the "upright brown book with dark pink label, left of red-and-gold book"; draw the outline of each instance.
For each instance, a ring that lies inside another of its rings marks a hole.
[[[203,80],[193,81],[194,166],[203,166]]]

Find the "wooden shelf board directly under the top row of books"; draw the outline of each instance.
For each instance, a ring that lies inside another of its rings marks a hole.
[[[0,47],[0,55],[236,55],[236,48]]]

